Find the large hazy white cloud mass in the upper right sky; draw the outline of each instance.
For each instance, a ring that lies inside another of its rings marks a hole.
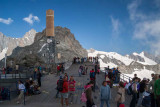
[[[160,14],[155,12],[140,13],[138,8],[141,3],[141,0],[135,0],[128,5],[130,19],[134,26],[133,38],[148,45],[155,55],[160,55]]]

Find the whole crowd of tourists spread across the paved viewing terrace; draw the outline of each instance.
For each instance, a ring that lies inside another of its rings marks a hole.
[[[75,61],[75,62],[74,62]],[[98,57],[88,57],[88,58],[74,58],[74,63],[80,63],[78,69],[79,77],[81,75],[89,76],[90,81],[84,86],[84,91],[81,95],[81,102],[86,103],[86,107],[96,107],[93,99],[93,92],[96,91],[96,75],[100,73],[100,66],[98,64]],[[88,72],[88,65],[82,64],[85,61],[93,62],[94,67]],[[67,107],[69,104],[73,104],[74,95],[76,91],[76,81],[74,76],[68,76],[64,73],[64,67],[62,65],[57,66],[57,75],[59,79],[57,80],[57,93],[56,98],[61,98],[61,105],[64,106],[64,101]],[[60,72],[62,75],[60,76]],[[130,107],[160,107],[160,76],[158,74],[152,74],[152,80],[147,78],[142,80],[134,75],[132,80],[120,81],[120,74],[118,68],[110,69],[109,66],[105,68],[104,81],[100,88],[100,107],[104,106],[106,103],[107,107],[110,107],[111,88],[113,84],[117,84],[118,89],[116,92],[116,97],[114,98],[117,107],[125,107],[126,96],[131,98]],[[33,79],[27,80],[26,83],[22,81],[18,82],[19,97],[17,103],[23,99],[24,92],[26,95],[39,94],[39,87],[41,87],[41,71],[40,68],[35,69]],[[115,88],[115,87],[114,87]],[[117,87],[116,87],[117,88]]]

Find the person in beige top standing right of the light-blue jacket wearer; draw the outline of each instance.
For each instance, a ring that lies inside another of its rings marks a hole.
[[[124,83],[123,82],[119,82],[119,88],[118,88],[118,92],[117,92],[115,101],[117,102],[117,107],[119,107],[120,105],[124,105],[124,102],[125,102],[125,88],[124,88]]]

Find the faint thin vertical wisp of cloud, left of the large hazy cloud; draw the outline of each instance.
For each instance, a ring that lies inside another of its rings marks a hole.
[[[120,26],[120,22],[118,19],[115,19],[113,18],[112,16],[110,17],[111,18],[111,22],[112,22],[112,34],[114,36],[118,36],[119,35],[119,26]]]

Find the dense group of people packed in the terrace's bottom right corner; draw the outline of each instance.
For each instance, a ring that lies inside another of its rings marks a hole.
[[[152,80],[142,80],[134,74],[134,78],[125,83],[125,90],[132,95],[130,107],[160,107],[160,75],[151,74]]]

